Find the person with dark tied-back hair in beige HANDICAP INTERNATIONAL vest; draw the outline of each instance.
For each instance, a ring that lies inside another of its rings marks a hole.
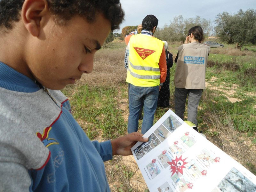
[[[197,107],[205,89],[205,71],[210,47],[201,44],[203,29],[200,26],[188,30],[185,44],[178,48],[175,58],[174,108],[184,120],[185,103],[188,96],[188,121],[197,126]]]

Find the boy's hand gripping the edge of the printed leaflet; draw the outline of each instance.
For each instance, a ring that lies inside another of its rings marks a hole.
[[[148,138],[143,138],[142,133],[133,132],[123,137],[111,140],[112,154],[114,155],[132,155],[131,148],[137,141],[147,142]]]

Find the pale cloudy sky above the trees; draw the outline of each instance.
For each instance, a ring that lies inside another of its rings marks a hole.
[[[114,33],[121,33],[127,25],[139,25],[146,15],[157,17],[158,27],[170,24],[174,17],[196,17],[214,21],[222,12],[237,13],[239,9],[256,9],[256,0],[120,0],[125,12],[124,22]],[[214,22],[213,22],[214,23]]]

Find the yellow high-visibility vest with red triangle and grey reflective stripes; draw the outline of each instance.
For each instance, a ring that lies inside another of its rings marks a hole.
[[[164,42],[156,37],[138,34],[129,41],[129,62],[126,82],[138,87],[160,84],[159,59]]]

